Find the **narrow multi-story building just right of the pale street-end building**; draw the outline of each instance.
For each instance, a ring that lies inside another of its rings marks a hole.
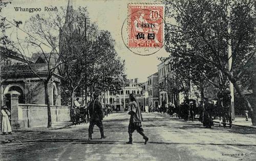
[[[158,72],[147,77],[147,92],[148,92],[148,105],[154,108],[158,106],[159,91],[158,91]]]

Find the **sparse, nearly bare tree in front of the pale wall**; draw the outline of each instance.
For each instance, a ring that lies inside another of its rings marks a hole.
[[[25,29],[28,37],[26,39],[21,39],[18,36],[18,26],[16,26],[16,39],[11,40],[9,37],[8,43],[5,44],[6,48],[16,50],[22,57],[25,63],[28,65],[29,69],[33,74],[44,83],[45,98],[47,104],[48,113],[48,125],[51,127],[51,104],[48,92],[48,83],[52,76],[54,75],[56,69],[66,60],[62,59],[63,52],[59,51],[59,31],[63,28],[63,22],[65,18],[65,10],[60,10],[60,12],[52,13],[49,15],[36,14],[30,17],[26,22]],[[17,21],[20,23],[20,21]],[[68,32],[68,31],[66,31]],[[28,60],[27,54],[31,46],[35,47],[37,51],[41,53],[42,59],[44,59],[47,66],[47,76],[42,77],[36,72],[36,68],[33,66],[31,61]],[[69,60],[68,60],[69,61]]]

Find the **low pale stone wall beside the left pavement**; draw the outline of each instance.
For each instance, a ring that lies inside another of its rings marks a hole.
[[[18,117],[14,128],[47,127],[48,115],[46,104],[18,104]],[[51,106],[52,123],[70,120],[68,106]],[[15,120],[12,120],[15,121]]]

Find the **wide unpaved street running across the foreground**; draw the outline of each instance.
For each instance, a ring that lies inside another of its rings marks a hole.
[[[212,129],[198,121],[183,121],[143,113],[148,144],[135,131],[128,141],[129,115],[115,113],[103,120],[106,139],[95,126],[88,141],[88,124],[56,130],[17,131],[11,143],[1,145],[2,160],[253,160],[256,130],[242,127]],[[8,136],[10,137],[10,136]],[[14,155],[15,154],[15,155]]]

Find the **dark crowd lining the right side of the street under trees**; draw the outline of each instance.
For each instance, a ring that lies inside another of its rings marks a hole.
[[[219,126],[229,124],[232,126],[230,111],[231,96],[228,90],[221,90],[218,93],[218,100],[211,101],[203,98],[201,101],[185,98],[181,104],[162,102],[162,105],[153,107],[152,105],[141,106],[141,111],[145,113],[160,113],[170,117],[177,117],[185,121],[194,121],[195,118],[202,122],[206,128],[214,125],[213,120],[219,119]],[[245,111],[246,121],[248,121],[248,110]],[[222,122],[221,122],[222,120]]]

